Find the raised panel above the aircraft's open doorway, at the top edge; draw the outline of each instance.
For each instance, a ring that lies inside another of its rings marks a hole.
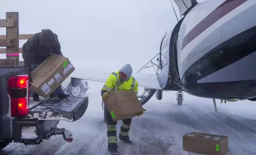
[[[196,0],[174,0],[174,2],[180,11],[180,17],[184,15],[188,9],[193,8],[197,4]]]

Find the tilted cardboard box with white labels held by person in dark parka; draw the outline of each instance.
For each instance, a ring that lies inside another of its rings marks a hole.
[[[51,54],[31,73],[31,90],[47,98],[74,70],[68,58]]]

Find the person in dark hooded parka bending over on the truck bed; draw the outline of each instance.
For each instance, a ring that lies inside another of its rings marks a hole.
[[[43,30],[31,36],[22,46],[22,57],[24,66],[29,67],[30,72],[35,70],[52,53],[62,55],[60,51],[60,42],[58,36],[51,30]],[[63,55],[62,55],[63,56]],[[30,78],[31,76],[29,76]],[[30,78],[29,81],[32,81]],[[39,95],[32,92],[33,100],[39,101]],[[50,98],[68,98],[70,95],[65,94],[61,85],[50,95]]]

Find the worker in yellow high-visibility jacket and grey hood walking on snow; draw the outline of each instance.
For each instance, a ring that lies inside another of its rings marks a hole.
[[[138,82],[132,77],[132,66],[130,64],[124,65],[119,71],[112,72],[105,85],[101,89],[101,96],[103,100],[109,98],[108,93],[112,90],[134,90],[138,95]],[[108,149],[111,155],[117,154],[117,136],[116,136],[116,124],[117,121],[113,121],[110,113],[108,112],[104,104],[105,118],[107,118],[107,136],[108,136]],[[145,111],[145,109],[144,109]],[[137,116],[142,115],[143,112],[138,113]],[[123,142],[132,144],[128,133],[132,118],[122,120],[122,126],[120,128],[119,139]]]

